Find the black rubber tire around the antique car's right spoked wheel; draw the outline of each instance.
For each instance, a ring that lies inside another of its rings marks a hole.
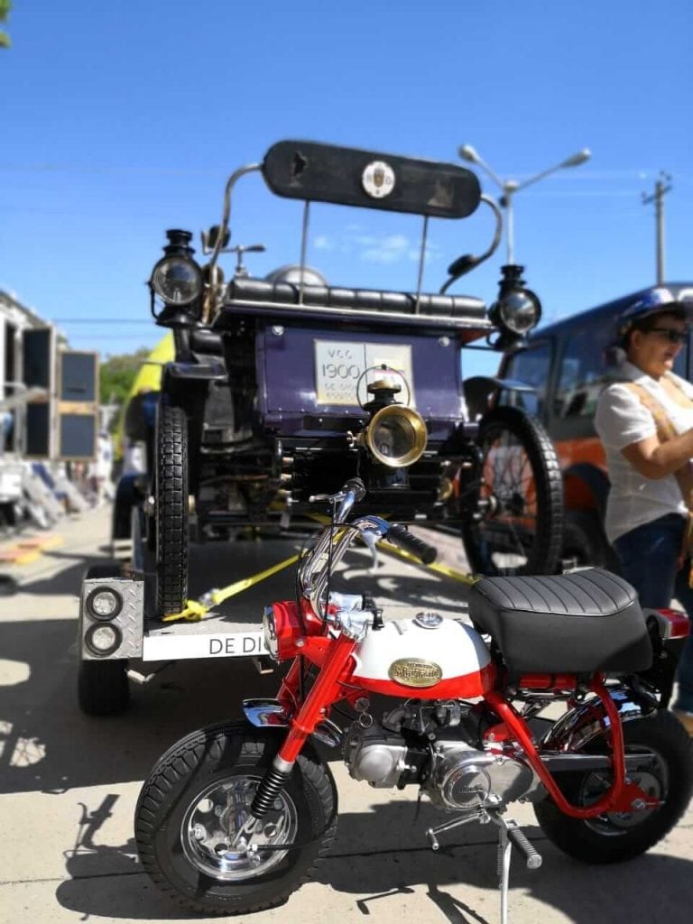
[[[484,575],[555,574],[563,546],[564,497],[561,467],[553,443],[539,421],[519,407],[494,407],[480,421],[477,443],[484,460],[494,440],[509,433],[522,445],[532,470],[537,493],[535,539],[527,561],[518,567],[499,568],[484,550],[483,520],[463,517],[462,539],[470,569]]]

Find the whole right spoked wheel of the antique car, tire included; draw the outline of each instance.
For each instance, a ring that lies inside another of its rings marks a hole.
[[[463,484],[462,538],[484,575],[553,574],[563,541],[563,480],[540,423],[517,407],[480,422],[480,478]]]

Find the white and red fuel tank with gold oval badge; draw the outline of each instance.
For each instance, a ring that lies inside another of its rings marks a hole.
[[[491,689],[495,674],[479,633],[437,613],[386,622],[353,658],[352,680],[385,696],[474,699]]]

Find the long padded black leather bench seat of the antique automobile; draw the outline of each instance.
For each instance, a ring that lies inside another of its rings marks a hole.
[[[265,302],[281,305],[299,304],[298,283],[270,283],[263,279],[232,279],[226,289],[226,302]],[[303,286],[302,304],[312,308],[393,311],[413,314],[417,297],[408,292],[382,292],[377,289],[354,289],[337,286]],[[421,295],[419,314],[450,318],[486,320],[486,305],[472,296]]]

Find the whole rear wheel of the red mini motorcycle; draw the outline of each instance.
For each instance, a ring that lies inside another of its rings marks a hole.
[[[684,727],[671,712],[624,724],[626,754],[641,754],[637,770],[628,777],[649,796],[662,800],[659,808],[606,812],[580,821],[568,818],[549,798],[534,807],[543,832],[557,847],[584,863],[614,863],[645,853],[661,841],[683,815],[693,792],[693,746]],[[603,740],[590,750],[606,749]],[[562,773],[557,777],[566,798],[589,806],[611,784],[611,772]]]

